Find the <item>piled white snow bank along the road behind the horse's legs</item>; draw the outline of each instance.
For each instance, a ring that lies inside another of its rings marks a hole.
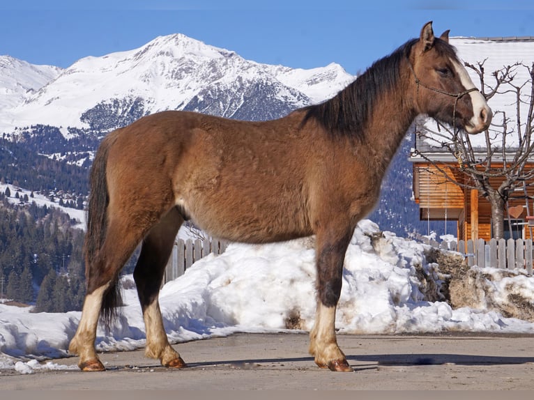
[[[428,249],[392,233],[381,233],[368,220],[360,222],[346,252],[336,316],[340,332],[534,333],[534,323],[505,318],[494,307],[511,293],[521,295],[521,301],[532,307],[533,277],[485,268],[478,271],[478,280],[486,285],[480,296],[483,301],[452,309],[445,298],[427,300],[429,295],[422,290],[422,276],[432,282],[434,298],[440,297],[444,284],[437,264],[426,259]],[[178,343],[232,332],[310,330],[315,310],[314,257],[314,238],[303,238],[268,245],[232,244],[220,256],[201,259],[160,292],[169,339]],[[144,323],[135,289],[124,292],[125,307],[111,332],[98,328],[98,351],[144,346]],[[55,368],[53,363],[32,360],[66,355],[79,316],[75,311],[31,314],[27,309],[0,305],[0,368],[21,372],[37,365]],[[16,367],[17,362],[26,367]]]

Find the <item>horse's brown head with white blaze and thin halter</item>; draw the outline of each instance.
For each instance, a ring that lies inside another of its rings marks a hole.
[[[449,45],[448,34],[445,31],[440,38],[434,37],[432,22],[428,22],[411,48],[409,62],[418,111],[468,133],[479,133],[489,127],[492,112]]]

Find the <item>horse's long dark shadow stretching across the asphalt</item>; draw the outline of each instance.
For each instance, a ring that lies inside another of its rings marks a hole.
[[[418,366],[418,365],[507,365],[534,363],[534,357],[505,357],[500,355],[471,355],[471,354],[374,354],[349,355],[346,357],[355,371],[362,369],[376,369],[381,366]],[[208,367],[231,365],[237,368],[251,369],[261,364],[284,364],[288,362],[306,362],[314,366],[313,357],[287,358],[257,358],[248,360],[220,360],[206,362],[191,362],[189,367]]]

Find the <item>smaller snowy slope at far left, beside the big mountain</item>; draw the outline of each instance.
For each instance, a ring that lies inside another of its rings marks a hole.
[[[61,74],[54,66],[35,66],[10,56],[0,56],[0,111],[22,104]]]

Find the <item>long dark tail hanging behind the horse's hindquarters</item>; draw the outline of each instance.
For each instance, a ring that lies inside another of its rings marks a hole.
[[[89,201],[87,205],[87,233],[84,241],[85,275],[89,284],[89,277],[96,276],[98,271],[98,254],[107,234],[107,207],[109,206],[109,192],[107,188],[107,155],[110,141],[104,139],[98,148],[91,173],[89,176]],[[109,328],[114,317],[116,307],[122,304],[119,277],[116,276],[102,299],[101,318]]]

